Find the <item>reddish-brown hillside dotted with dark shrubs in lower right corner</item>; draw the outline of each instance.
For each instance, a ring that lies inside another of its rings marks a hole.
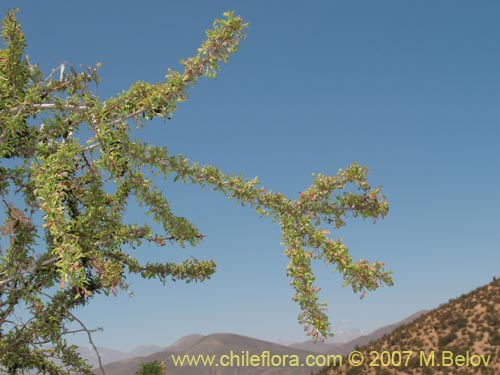
[[[325,368],[318,375],[499,375],[500,279],[359,350],[364,356],[361,366],[349,366],[344,357],[341,366]]]

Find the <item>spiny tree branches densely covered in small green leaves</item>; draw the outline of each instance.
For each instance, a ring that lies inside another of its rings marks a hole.
[[[144,241],[194,246],[203,239],[189,220],[172,212],[150,176],[218,191],[279,223],[293,299],[302,310],[299,319],[315,339],[328,335],[330,326],[313,285],[311,260],[335,265],[355,292],[392,284],[383,263],[354,262],[347,247],[322,229],[325,224],[341,227],[350,216],[387,214],[380,188],[366,181],[366,167],[352,164],[335,176],[316,175],[311,187],[290,199],[265,189],[257,178],[226,174],[131,138],[134,125],[140,129],[152,118],[170,118],[199,78],[216,76],[244,37],[240,17],[227,12],[216,20],[196,56],[181,61],[182,72],[169,70],[163,82],[137,82],[101,100],[92,89],[99,64],[81,72],[61,64],[44,75],[24,55],[15,14],[9,11],[3,21],[0,50],[0,205],[5,213],[0,229],[9,239],[0,259],[0,364],[9,373],[90,374],[65,340],[70,323],[90,335],[75,308],[97,293],[128,290],[129,274],[191,282],[215,272],[213,260],[141,264],[131,255],[129,250]],[[146,220],[125,222],[133,198],[159,224],[159,232]],[[22,321],[16,318],[20,310],[27,316]]]

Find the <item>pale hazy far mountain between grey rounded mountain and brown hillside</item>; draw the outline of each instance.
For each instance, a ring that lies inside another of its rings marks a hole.
[[[356,346],[363,346],[371,341],[377,340],[382,336],[394,331],[399,326],[410,323],[426,312],[426,310],[418,311],[397,323],[381,327],[370,334],[363,333],[363,331],[361,330],[352,329],[336,334],[333,338],[337,337],[337,339],[332,340],[333,342],[314,343],[312,340],[309,340],[297,344],[292,344],[290,345],[290,347],[309,350],[316,353],[333,353],[345,355],[354,350]],[[353,339],[348,340],[349,337],[353,337]]]

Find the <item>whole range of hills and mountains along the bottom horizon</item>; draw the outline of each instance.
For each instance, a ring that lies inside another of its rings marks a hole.
[[[300,344],[300,343],[298,343]],[[302,343],[307,344],[307,342]],[[346,346],[348,344],[348,346]],[[233,350],[235,353],[249,351],[258,354],[263,350],[269,350],[273,354],[296,353],[299,356],[312,354],[340,354],[345,355],[345,350],[359,350],[364,353],[365,358],[370,358],[370,351],[377,353],[402,353],[411,350],[414,353],[424,353],[424,358],[429,356],[432,350],[449,351],[456,355],[462,355],[467,351],[488,354],[488,358],[500,358],[500,280],[495,279],[482,287],[476,288],[460,297],[450,299],[447,303],[439,305],[430,311],[418,311],[407,318],[387,326],[380,327],[372,333],[360,336],[347,343],[326,344],[321,350],[303,350],[294,348],[297,344],[290,346],[270,343],[230,333],[214,333],[206,336],[193,334],[180,338],[170,347],[163,351],[153,353],[146,357],[136,357],[125,361],[119,361],[105,366],[108,375],[133,375],[137,371],[138,364],[153,360],[165,361],[167,374],[194,375],[309,375],[311,371],[317,371],[317,375],[428,375],[428,374],[500,374],[499,361],[490,367],[467,368],[446,366],[420,366],[417,359],[411,358],[408,366],[404,368],[397,366],[367,367],[367,362],[359,367],[335,367],[314,369],[304,368],[231,368],[231,367],[174,367],[170,356],[178,355],[215,355],[227,353]],[[473,354],[474,354],[473,353]],[[344,357],[346,358],[346,357]],[[436,361],[442,358],[436,356]],[[380,359],[379,359],[380,360]],[[389,363],[390,365],[390,363]],[[480,372],[471,372],[471,371]],[[96,372],[97,373],[97,372]]]

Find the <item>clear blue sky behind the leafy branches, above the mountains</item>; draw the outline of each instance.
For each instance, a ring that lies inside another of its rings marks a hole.
[[[14,6],[31,61],[45,71],[102,62],[102,98],[179,69],[225,10],[250,23],[218,78],[199,82],[172,121],[150,122],[142,136],[259,176],[290,198],[313,172],[368,166],[389,215],[349,220],[332,235],[355,259],[384,261],[395,285],[360,300],[332,267],[315,264],[334,331],[371,331],[499,275],[500,3],[30,0],[0,10]],[[207,237],[194,249],[145,245],[138,257],[213,258],[218,271],[166,287],[130,278],[134,298],[96,298],[79,311],[89,327],[104,327],[96,344],[129,350],[215,332],[306,340],[279,226],[218,193],[159,183]]]

